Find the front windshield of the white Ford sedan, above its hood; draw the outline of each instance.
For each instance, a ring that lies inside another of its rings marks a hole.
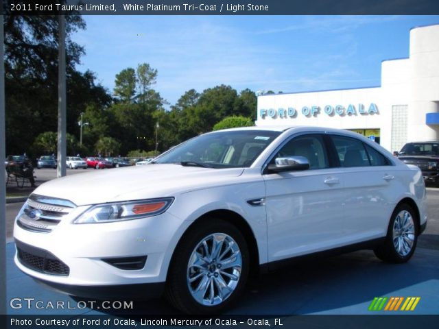
[[[167,151],[152,163],[209,168],[250,167],[281,132],[236,130],[204,134]]]

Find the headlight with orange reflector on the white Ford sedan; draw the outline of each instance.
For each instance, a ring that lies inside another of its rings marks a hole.
[[[97,204],[80,215],[73,223],[108,223],[111,221],[129,221],[131,219],[152,217],[163,214],[173,201],[174,197],[165,197],[162,199]]]

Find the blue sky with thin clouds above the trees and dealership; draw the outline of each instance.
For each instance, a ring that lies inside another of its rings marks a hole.
[[[381,84],[381,61],[409,56],[410,29],[439,16],[83,16],[72,38],[80,71],[112,92],[115,75],[148,63],[170,105],[187,90],[238,92],[361,88]]]

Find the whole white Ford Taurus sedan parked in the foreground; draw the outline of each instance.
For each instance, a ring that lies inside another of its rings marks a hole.
[[[372,248],[404,263],[426,224],[420,170],[377,143],[344,130],[237,128],[145,166],[40,185],[16,217],[15,263],[71,295],[164,292],[186,313],[217,313],[250,272],[298,256]]]

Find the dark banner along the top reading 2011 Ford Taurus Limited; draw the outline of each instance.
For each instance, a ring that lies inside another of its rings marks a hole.
[[[6,0],[3,7],[20,15],[439,14],[437,0]]]

